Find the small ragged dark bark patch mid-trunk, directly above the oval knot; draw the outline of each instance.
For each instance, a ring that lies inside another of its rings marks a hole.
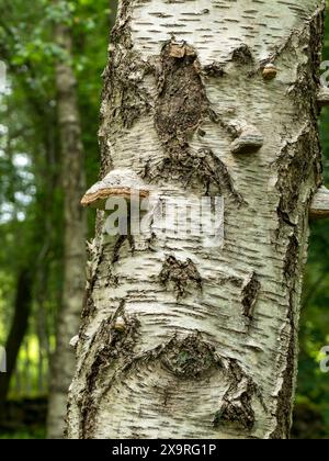
[[[191,259],[178,261],[174,256],[167,256],[162,270],[159,274],[161,284],[166,288],[173,284],[178,300],[188,294],[189,286],[192,284],[202,291],[202,278],[195,263]]]

